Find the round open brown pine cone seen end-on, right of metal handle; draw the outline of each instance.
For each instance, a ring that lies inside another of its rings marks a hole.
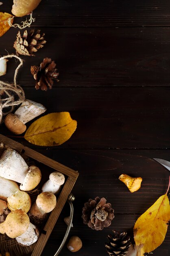
[[[106,203],[105,198],[89,199],[89,202],[84,205],[82,215],[84,224],[96,230],[102,230],[111,225],[114,210],[111,208],[111,204]]]

